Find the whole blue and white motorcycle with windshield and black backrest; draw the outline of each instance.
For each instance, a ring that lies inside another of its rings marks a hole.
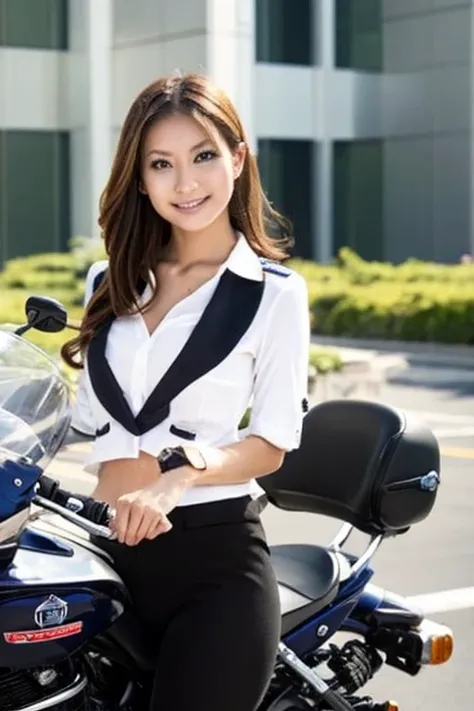
[[[67,313],[46,297],[29,297],[25,311],[25,325],[0,330],[0,709],[142,711],[153,640],[91,540],[111,537],[111,512],[44,474],[68,437],[69,391],[24,333],[60,331]],[[260,483],[273,505],[342,528],[327,546],[271,549],[282,636],[259,711],[396,711],[363,693],[383,664],[416,675],[448,661],[451,630],[370,582],[380,544],[431,512],[439,464],[431,431],[395,409],[309,409],[300,448]],[[346,550],[354,530],[369,537],[360,556]],[[338,646],[336,632],[350,639]]]

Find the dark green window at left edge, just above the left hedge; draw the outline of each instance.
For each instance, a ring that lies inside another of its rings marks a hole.
[[[69,134],[0,132],[0,262],[67,248]]]

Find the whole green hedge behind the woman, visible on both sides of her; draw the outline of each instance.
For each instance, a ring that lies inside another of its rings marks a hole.
[[[101,243],[75,240],[68,254],[14,259],[0,274],[0,323],[21,323],[30,294],[61,301],[70,319],[82,314],[84,277],[104,256]],[[350,249],[336,263],[319,265],[290,260],[308,284],[315,334],[359,338],[474,344],[474,265],[443,265],[409,260],[400,265],[364,262]],[[71,336],[31,333],[31,340],[51,353]],[[319,370],[327,354],[319,357]]]

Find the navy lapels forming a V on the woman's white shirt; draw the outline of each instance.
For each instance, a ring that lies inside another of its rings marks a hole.
[[[264,284],[224,271],[199,322],[136,418],[105,357],[111,320],[93,338],[87,356],[91,384],[103,407],[135,436],[163,422],[171,401],[219,365],[241,340],[255,318]]]

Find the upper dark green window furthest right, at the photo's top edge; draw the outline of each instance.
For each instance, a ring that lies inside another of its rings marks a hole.
[[[383,69],[381,0],[336,0],[336,65]]]

